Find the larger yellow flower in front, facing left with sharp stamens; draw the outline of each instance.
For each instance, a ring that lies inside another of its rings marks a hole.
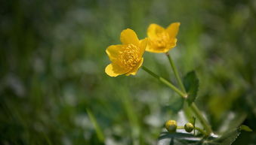
[[[106,66],[105,72],[110,77],[135,75],[143,63],[147,38],[140,41],[133,30],[125,29],[121,32],[120,40],[122,44],[106,48],[106,54],[112,63]]]

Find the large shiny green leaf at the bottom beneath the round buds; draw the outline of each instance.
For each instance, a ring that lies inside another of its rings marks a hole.
[[[239,114],[241,116],[241,114]],[[243,117],[242,117],[243,118]],[[223,133],[220,134],[211,134],[210,137],[204,137],[202,134],[193,135],[192,133],[176,132],[168,133],[162,132],[159,137],[158,145],[231,145],[239,137],[241,131],[252,131],[246,125],[240,125],[241,120],[238,120],[236,117],[226,122],[229,124]],[[238,124],[240,123],[240,124]]]

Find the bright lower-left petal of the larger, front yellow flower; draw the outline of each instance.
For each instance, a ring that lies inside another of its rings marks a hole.
[[[119,67],[119,65],[116,65],[114,63],[110,63],[109,65],[106,66],[105,72],[110,77],[116,77],[116,76],[119,76],[121,74],[127,73],[128,70],[125,70],[125,69]]]

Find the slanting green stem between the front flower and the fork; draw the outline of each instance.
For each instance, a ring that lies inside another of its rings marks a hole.
[[[177,89],[176,86],[168,82],[168,80],[165,80],[162,77],[159,77],[159,75],[153,73],[153,71],[150,71],[148,68],[142,66],[141,67],[144,71],[146,71],[148,74],[152,75],[153,77],[156,77],[156,79],[160,80],[162,83],[165,83],[165,85],[169,86],[171,89],[174,90],[174,92],[177,92],[181,97],[187,98],[187,95],[184,92],[181,92],[180,89]]]

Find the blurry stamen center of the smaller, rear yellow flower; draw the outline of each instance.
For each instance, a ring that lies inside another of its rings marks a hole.
[[[151,41],[151,44],[153,44],[155,47],[159,49],[165,49],[168,45],[169,41],[169,35],[167,32],[162,32],[157,34],[157,38],[153,39]]]

